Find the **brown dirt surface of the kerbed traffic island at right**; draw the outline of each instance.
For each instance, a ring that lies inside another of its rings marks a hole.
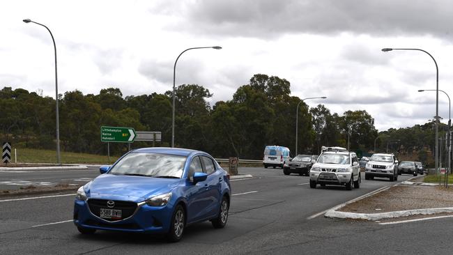
[[[341,212],[379,213],[453,207],[453,188],[398,185],[338,209]]]

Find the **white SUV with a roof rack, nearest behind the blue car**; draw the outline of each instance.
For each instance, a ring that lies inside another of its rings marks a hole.
[[[310,169],[310,187],[317,184],[344,185],[346,190],[360,187],[360,167],[357,155],[346,148],[323,147],[316,163]]]

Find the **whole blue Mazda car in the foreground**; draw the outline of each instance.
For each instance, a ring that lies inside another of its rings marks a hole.
[[[188,224],[227,224],[229,175],[208,153],[140,148],[100,172],[77,190],[74,224],[80,233],[163,233],[176,242]]]

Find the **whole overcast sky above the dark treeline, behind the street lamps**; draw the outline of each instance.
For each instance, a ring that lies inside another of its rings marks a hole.
[[[342,115],[365,109],[378,130],[426,123],[439,89],[453,99],[451,0],[162,0],[3,1],[0,8],[0,87],[55,95],[117,87],[123,95],[164,93],[199,84],[209,100],[231,100],[257,73],[291,82],[300,98]],[[439,93],[439,115],[448,100]]]

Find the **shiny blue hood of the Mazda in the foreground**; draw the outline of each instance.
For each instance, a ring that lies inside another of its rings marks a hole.
[[[102,174],[87,183],[84,190],[91,199],[141,202],[151,196],[170,192],[180,182],[181,179]]]

